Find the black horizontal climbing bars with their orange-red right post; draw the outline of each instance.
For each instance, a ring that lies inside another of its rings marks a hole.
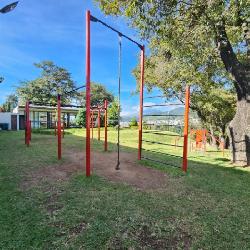
[[[186,171],[189,91],[187,87],[185,105],[176,102],[152,102],[143,105],[141,159],[166,166],[182,167]],[[164,97],[157,95],[144,99]]]

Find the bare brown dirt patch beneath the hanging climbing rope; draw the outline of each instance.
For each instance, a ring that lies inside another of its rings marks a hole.
[[[23,182],[24,188],[38,185],[41,181],[68,179],[73,173],[85,173],[85,155],[82,152],[66,152],[66,163],[42,168],[31,173]],[[138,164],[136,154],[122,152],[120,170],[115,170],[117,153],[92,152],[92,173],[107,180],[125,183],[142,190],[160,189],[167,185],[167,175],[161,171]]]

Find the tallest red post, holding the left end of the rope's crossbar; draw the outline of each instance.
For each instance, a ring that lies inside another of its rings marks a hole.
[[[90,11],[86,11],[86,176],[90,176]]]

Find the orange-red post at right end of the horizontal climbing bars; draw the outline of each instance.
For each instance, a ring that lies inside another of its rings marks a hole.
[[[187,155],[188,155],[188,123],[189,123],[189,103],[190,103],[190,87],[186,87],[185,95],[185,116],[184,116],[184,141],[183,141],[183,159],[182,170],[187,172]]]

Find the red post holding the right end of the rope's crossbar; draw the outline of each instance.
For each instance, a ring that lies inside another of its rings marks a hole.
[[[140,109],[139,109],[138,160],[141,160],[141,151],[142,151],[144,63],[145,63],[145,48],[144,48],[144,46],[142,46],[142,48],[141,48],[141,79],[140,79]]]

